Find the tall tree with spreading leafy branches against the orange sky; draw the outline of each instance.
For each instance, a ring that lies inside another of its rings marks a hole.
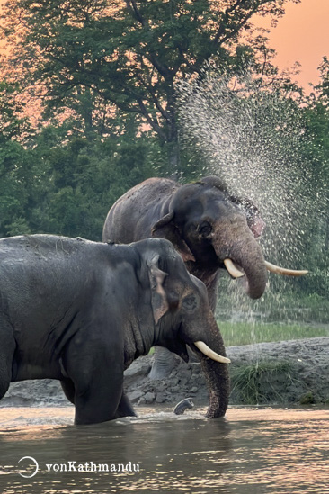
[[[156,133],[169,170],[177,170],[175,84],[201,77],[209,58],[227,66],[255,58],[253,14],[275,20],[287,1],[9,0],[4,32],[19,47],[11,58],[16,76],[48,109],[78,112],[89,134],[106,105],[132,113]]]

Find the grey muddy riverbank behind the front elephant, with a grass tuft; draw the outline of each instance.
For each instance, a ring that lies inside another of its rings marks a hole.
[[[279,343],[230,346],[232,361],[230,403],[303,404],[329,402],[329,337]],[[195,404],[208,400],[200,364],[185,364],[177,357],[164,381],[147,377],[153,357],[139,358],[125,373],[125,390],[135,405],[176,403],[191,397]],[[0,406],[67,405],[59,382],[13,382]]]

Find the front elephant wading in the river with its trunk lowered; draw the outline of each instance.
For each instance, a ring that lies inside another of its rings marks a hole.
[[[124,370],[152,346],[184,360],[189,347],[209,385],[207,417],[225,415],[223,338],[206,287],[168,240],[2,238],[0,300],[0,398],[10,382],[49,378],[75,405],[77,425],[134,416]]]

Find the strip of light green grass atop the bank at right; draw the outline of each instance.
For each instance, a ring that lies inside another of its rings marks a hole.
[[[281,341],[311,337],[329,337],[329,327],[261,322],[220,322],[218,327],[225,346],[249,345],[266,341]]]

